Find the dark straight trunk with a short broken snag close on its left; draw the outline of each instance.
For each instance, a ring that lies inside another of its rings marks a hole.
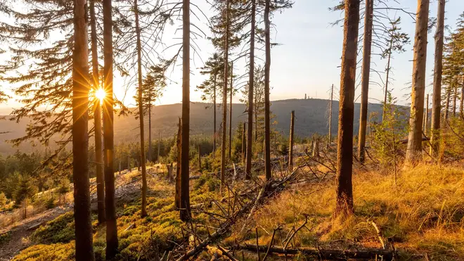
[[[190,147],[190,0],[183,0],[181,220],[191,219],[188,150]]]

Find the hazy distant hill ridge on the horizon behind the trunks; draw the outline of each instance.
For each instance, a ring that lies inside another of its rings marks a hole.
[[[271,102],[271,111],[276,115],[276,129],[289,134],[290,112],[295,110],[295,135],[310,136],[311,134],[327,134],[328,132],[328,106],[329,101],[323,99],[309,98],[291,99]],[[337,134],[338,122],[338,101],[333,102],[333,127],[332,132]],[[221,126],[221,110],[217,108],[217,129]],[[236,128],[239,122],[247,119],[245,106],[243,104],[233,104],[233,128]],[[359,129],[359,110],[360,104],[354,106],[354,134]],[[369,104],[368,114],[380,112],[380,104]],[[162,138],[172,137],[177,132],[177,122],[181,116],[181,104],[170,104],[156,106],[152,110],[152,137],[157,139],[160,132]],[[6,116],[8,119],[9,117]],[[146,129],[148,129],[148,120],[146,120]],[[24,144],[19,148],[12,148],[11,144],[5,142],[8,139],[15,139],[25,134],[25,127],[28,121],[23,120],[20,123],[9,120],[0,121],[0,154],[6,155],[13,153],[17,149],[20,151],[40,150],[40,147],[34,148],[30,144]],[[191,134],[192,135],[212,135],[213,133],[213,110],[210,103],[191,103]],[[147,135],[148,136],[148,135]],[[115,142],[116,144],[127,141],[137,141],[138,137],[138,120],[134,115],[129,117],[115,117]]]

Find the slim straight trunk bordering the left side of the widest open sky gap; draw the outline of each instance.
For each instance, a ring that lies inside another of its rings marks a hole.
[[[272,178],[271,172],[271,102],[269,101],[269,81],[271,79],[271,21],[269,20],[271,0],[264,7],[264,34],[266,42],[266,63],[264,64],[264,163],[266,180]]]

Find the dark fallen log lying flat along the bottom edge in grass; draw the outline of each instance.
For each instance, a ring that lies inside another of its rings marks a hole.
[[[393,260],[394,251],[378,248],[363,248],[363,249],[323,249],[323,248],[281,248],[273,246],[256,246],[256,245],[238,245],[234,246],[235,250],[247,250],[256,252],[267,251],[269,253],[286,254],[286,255],[306,255],[318,257],[321,260],[339,260],[339,259],[375,259],[376,257],[383,257],[383,260]]]

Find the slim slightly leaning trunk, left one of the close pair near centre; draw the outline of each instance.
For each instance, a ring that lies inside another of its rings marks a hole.
[[[256,24],[256,0],[252,0],[250,30],[250,78],[248,79],[248,129],[247,129],[247,163],[245,167],[246,178],[251,178],[251,165],[253,153],[253,94],[254,94],[254,27]]]

